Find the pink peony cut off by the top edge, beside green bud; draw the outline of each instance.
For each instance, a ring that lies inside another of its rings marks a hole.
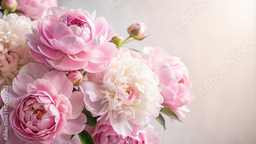
[[[18,10],[24,12],[26,16],[39,19],[42,12],[50,7],[58,7],[57,0],[17,0]]]

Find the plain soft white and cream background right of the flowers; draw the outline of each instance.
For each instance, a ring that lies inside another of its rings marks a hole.
[[[126,28],[138,21],[147,25],[148,36],[128,46],[142,50],[145,45],[161,46],[187,65],[196,99],[183,123],[167,121],[163,131],[156,121],[162,143],[253,144],[256,143],[255,48],[237,60],[227,61],[243,49],[245,39],[255,40],[255,1],[208,0],[195,17],[178,31],[174,22],[191,11],[198,0],[59,0],[59,6],[81,8],[104,16],[116,33],[127,36]],[[207,93],[199,94],[214,74],[226,65],[228,73]]]

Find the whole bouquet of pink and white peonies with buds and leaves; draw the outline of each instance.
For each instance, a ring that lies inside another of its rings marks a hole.
[[[1,1],[0,143],[161,143],[150,121],[180,121],[188,70],[161,47],[143,53],[104,17],[57,1]]]

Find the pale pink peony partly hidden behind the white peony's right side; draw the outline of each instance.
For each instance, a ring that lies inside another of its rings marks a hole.
[[[143,52],[143,58],[160,79],[159,87],[164,99],[162,105],[184,117],[181,111],[188,112],[185,105],[195,98],[190,91],[192,85],[187,67],[178,57],[163,52],[161,47],[145,47]]]

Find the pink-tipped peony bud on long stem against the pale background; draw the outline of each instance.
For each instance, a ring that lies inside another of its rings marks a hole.
[[[142,40],[146,35],[146,25],[143,22],[137,22],[131,25],[127,32],[135,39]]]

